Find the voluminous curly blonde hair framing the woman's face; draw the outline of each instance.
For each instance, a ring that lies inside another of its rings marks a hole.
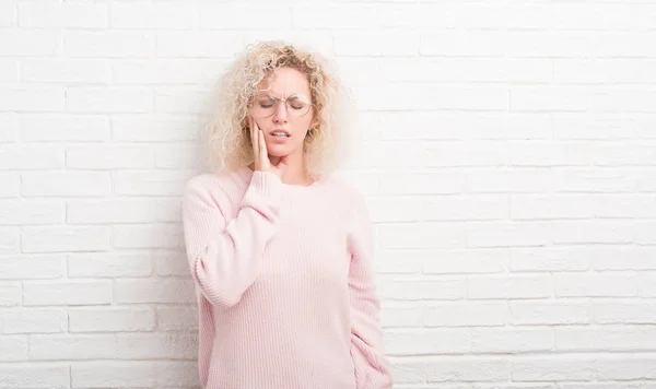
[[[232,172],[254,161],[247,113],[259,83],[280,68],[307,74],[314,119],[304,141],[304,164],[313,177],[329,175],[349,154],[356,108],[332,63],[319,54],[282,40],[251,44],[219,79],[204,127],[206,163],[213,173]]]

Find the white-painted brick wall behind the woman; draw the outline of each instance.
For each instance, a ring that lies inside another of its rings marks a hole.
[[[358,97],[395,388],[656,388],[649,0],[3,0],[0,388],[197,385],[179,199],[262,38]]]

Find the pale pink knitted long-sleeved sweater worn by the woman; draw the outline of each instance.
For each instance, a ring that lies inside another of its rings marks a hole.
[[[352,186],[244,166],[190,179],[183,216],[203,388],[393,387],[371,222]]]

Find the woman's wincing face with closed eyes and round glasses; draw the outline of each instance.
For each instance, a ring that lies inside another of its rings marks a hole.
[[[314,117],[307,75],[296,69],[280,68],[265,78],[258,90],[249,115],[265,132],[269,155],[302,154]]]

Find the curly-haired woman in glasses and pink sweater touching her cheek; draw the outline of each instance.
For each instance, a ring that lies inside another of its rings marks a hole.
[[[212,173],[185,189],[207,389],[391,388],[363,197],[331,177],[351,122],[326,61],[249,47],[218,86]]]

